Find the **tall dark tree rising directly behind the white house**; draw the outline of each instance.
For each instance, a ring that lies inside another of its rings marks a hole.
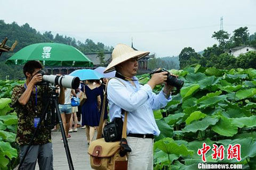
[[[247,27],[235,29],[233,33],[233,39],[236,46],[249,44],[249,30]]]

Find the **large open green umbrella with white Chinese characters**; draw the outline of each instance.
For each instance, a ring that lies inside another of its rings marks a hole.
[[[6,64],[39,60],[44,66],[93,67],[92,61],[77,48],[60,43],[31,44],[11,56]]]

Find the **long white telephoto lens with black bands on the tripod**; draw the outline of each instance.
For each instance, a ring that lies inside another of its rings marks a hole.
[[[46,85],[48,83],[52,83],[55,85],[60,85],[66,88],[77,89],[80,85],[80,79],[74,76],[57,76],[57,75],[45,75],[45,71],[40,70],[37,72],[38,74],[42,74],[43,80],[39,82],[37,85]]]

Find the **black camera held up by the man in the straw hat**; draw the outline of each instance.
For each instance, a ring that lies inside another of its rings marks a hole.
[[[177,77],[173,76],[170,74],[169,71],[167,71],[166,69],[162,68],[162,69],[155,69],[153,71],[151,71],[149,74],[150,75],[153,75],[155,73],[158,73],[158,72],[168,72],[167,73],[167,80],[166,80],[166,83],[170,86],[174,86],[177,88],[178,91],[180,91],[181,87],[184,85],[184,81],[183,80],[180,80],[178,79]]]

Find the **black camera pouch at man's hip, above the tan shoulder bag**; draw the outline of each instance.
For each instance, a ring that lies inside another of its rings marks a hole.
[[[115,118],[103,128],[103,136],[106,142],[115,142],[122,139],[123,120]]]

